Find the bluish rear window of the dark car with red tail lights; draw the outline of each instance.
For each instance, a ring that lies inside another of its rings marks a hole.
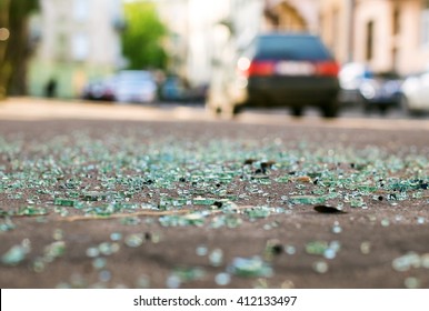
[[[332,57],[315,36],[261,36],[257,40],[256,59],[331,60]]]

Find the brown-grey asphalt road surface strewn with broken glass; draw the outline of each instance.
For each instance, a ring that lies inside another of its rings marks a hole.
[[[0,103],[1,288],[429,288],[429,122]]]

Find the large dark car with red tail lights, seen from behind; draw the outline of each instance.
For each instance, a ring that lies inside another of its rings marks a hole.
[[[320,38],[306,33],[258,36],[237,59],[237,68],[213,79],[207,107],[235,114],[246,107],[289,107],[301,116],[308,106],[325,117],[338,114],[339,66]]]

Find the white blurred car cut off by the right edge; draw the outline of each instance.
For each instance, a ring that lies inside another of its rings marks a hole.
[[[429,69],[405,79],[401,106],[410,114],[429,112]]]

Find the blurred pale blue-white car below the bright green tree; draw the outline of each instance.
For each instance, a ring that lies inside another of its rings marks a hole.
[[[119,102],[153,102],[158,87],[151,72],[144,70],[123,70],[114,81],[114,99]]]

